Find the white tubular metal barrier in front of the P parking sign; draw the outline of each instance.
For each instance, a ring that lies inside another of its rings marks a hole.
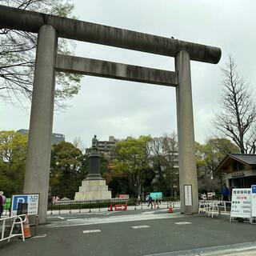
[[[22,219],[23,217],[24,219]],[[7,239],[8,239],[8,242],[10,242],[10,238],[14,238],[17,236],[22,236],[22,240],[23,242],[25,242],[24,231],[23,231],[23,222],[25,222],[25,220],[26,220],[26,214],[8,217],[8,218],[0,218],[0,226],[2,226],[0,242]],[[7,227],[6,222],[10,222],[10,233],[5,236],[6,227]],[[19,226],[20,233],[13,234],[15,226]]]

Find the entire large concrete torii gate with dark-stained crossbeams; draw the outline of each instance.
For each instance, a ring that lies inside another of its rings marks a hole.
[[[217,64],[219,48],[7,6],[0,6],[0,27],[38,33],[24,193],[40,193],[42,223],[49,190],[55,71],[176,87],[181,211],[198,212],[190,60]],[[174,57],[175,72],[57,54],[58,37]]]

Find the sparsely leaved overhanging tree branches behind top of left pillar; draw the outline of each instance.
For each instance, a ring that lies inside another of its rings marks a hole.
[[[0,0],[1,5],[23,10],[35,10],[46,14],[70,17],[73,4],[69,0]],[[24,99],[31,99],[34,78],[34,59],[37,34],[19,30],[0,30],[0,98],[22,106]],[[58,52],[71,54],[74,43],[59,38]],[[65,100],[78,94],[79,74],[58,72],[55,88],[56,104],[65,106]]]

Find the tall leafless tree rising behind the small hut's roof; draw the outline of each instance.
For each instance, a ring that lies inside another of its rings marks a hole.
[[[220,98],[222,110],[215,114],[214,126],[238,146],[242,154],[255,154],[256,105],[254,94],[244,78],[237,72],[234,58],[230,56],[222,69],[223,92]]]

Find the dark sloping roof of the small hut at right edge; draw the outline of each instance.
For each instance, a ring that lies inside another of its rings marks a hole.
[[[256,165],[256,154],[227,154],[226,157],[219,163],[216,171],[226,169],[231,162],[238,161],[243,164],[254,166]]]

